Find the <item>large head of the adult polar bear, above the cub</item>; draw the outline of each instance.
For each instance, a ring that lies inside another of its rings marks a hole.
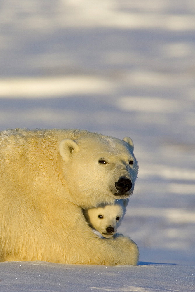
[[[83,209],[113,204],[133,193],[138,164],[133,142],[97,133],[59,145],[69,200]]]

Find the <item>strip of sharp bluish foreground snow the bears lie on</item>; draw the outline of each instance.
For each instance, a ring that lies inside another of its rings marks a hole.
[[[0,291],[194,291],[194,267],[163,263],[134,266],[1,263]]]

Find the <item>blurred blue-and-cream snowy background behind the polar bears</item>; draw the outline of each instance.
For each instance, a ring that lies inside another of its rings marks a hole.
[[[141,261],[195,264],[195,2],[1,0],[0,129],[130,136],[120,232]]]

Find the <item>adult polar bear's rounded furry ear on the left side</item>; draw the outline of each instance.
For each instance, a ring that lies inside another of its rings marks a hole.
[[[64,161],[68,161],[78,150],[79,145],[74,140],[64,139],[60,142],[59,151]]]

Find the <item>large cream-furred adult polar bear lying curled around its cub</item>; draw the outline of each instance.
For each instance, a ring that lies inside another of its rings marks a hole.
[[[102,239],[82,208],[133,193],[133,142],[85,130],[0,132],[1,261],[136,265],[129,238]]]

